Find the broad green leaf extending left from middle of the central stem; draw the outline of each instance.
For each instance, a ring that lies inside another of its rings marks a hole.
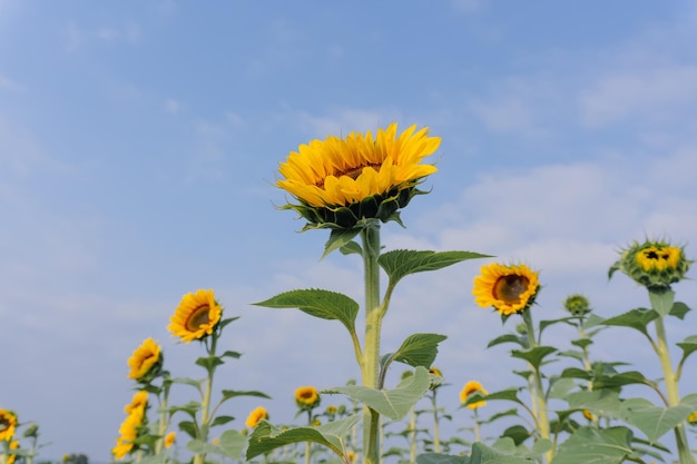
[[[355,333],[360,309],[359,304],[346,295],[318,288],[285,292],[255,305],[267,308],[298,308],[322,319],[336,319],[352,334]]]

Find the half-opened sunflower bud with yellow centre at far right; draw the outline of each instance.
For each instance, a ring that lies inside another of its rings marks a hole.
[[[642,244],[635,241],[624,249],[619,260],[610,268],[609,276],[620,269],[638,284],[660,290],[680,282],[693,263],[685,257],[683,247],[647,239]]]

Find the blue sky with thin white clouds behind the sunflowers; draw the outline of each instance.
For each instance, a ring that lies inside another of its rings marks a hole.
[[[197,288],[242,316],[226,337],[245,355],[219,388],[264,391],[287,422],[297,386],[355,378],[338,324],[249,304],[304,287],[360,299],[360,264],[320,261],[326,234],[297,234],[273,181],[300,144],[392,121],[442,144],[387,248],[541,269],[539,318],[577,292],[602,316],[646,305],[607,268],[645,235],[697,256],[695,43],[690,1],[0,0],[0,407],[40,424],[45,457],[107,461],[144,338],[175,375],[202,375],[202,352],[166,330]],[[410,277],[385,320],[384,351],[449,335],[453,407],[471,378],[517,382],[505,351],[484,349],[501,327],[472,303],[480,264]],[[641,340],[609,338],[598,357],[660,376]],[[256,405],[227,412],[242,426]]]

